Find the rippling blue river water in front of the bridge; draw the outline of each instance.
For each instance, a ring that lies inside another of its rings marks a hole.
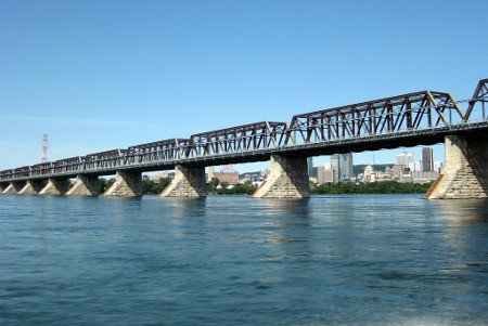
[[[0,325],[486,325],[488,201],[0,196]]]

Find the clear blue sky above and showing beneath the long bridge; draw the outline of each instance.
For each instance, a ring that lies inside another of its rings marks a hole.
[[[43,133],[55,160],[418,90],[466,99],[488,77],[487,10],[486,0],[2,0],[0,170],[39,162]],[[442,146],[434,155],[444,160]]]

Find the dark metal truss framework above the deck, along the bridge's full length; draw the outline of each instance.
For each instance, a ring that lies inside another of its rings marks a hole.
[[[480,80],[466,113],[449,93],[422,91],[352,105],[296,115],[285,122],[260,121],[196,133],[190,139],[170,139],[76,156],[0,171],[0,181],[76,175],[118,169],[169,166],[201,158],[254,155],[264,151],[293,151],[299,146],[326,146],[341,140],[410,134],[467,126],[481,117],[486,121],[488,79]],[[480,112],[480,113],[479,113]],[[476,115],[475,115],[476,113]]]

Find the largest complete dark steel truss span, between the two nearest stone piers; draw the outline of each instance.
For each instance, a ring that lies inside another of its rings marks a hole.
[[[290,132],[296,141],[309,143],[448,126],[451,110],[462,119],[463,113],[449,93],[422,91],[296,115]]]

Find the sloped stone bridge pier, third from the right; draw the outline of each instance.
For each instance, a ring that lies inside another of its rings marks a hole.
[[[205,167],[176,166],[175,180],[160,193],[162,197],[200,198],[207,196]]]

